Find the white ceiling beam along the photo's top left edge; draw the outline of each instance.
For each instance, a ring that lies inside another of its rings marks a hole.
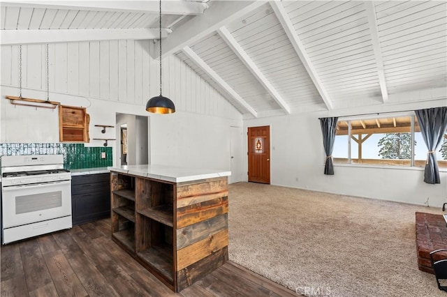
[[[159,14],[159,1],[2,1],[1,6],[53,8],[73,10],[119,11]],[[172,0],[161,2],[161,12],[166,15],[203,15],[206,3]]]

